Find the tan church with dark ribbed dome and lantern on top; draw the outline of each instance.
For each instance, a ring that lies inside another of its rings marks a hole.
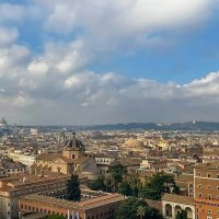
[[[83,143],[76,138],[76,134],[66,142],[61,153],[43,153],[36,158],[31,166],[32,173],[44,171],[60,172],[64,174],[82,174],[89,180],[96,180],[100,169],[93,158],[85,157]]]

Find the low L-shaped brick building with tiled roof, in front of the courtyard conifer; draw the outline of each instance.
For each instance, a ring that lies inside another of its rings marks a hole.
[[[60,215],[68,219],[110,219],[124,199],[124,196],[119,194],[104,194],[73,203],[34,194],[22,197],[19,206],[21,216],[46,212],[48,216]]]

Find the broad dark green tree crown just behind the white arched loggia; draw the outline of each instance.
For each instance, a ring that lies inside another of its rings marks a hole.
[[[140,197],[160,200],[164,193],[171,193],[171,187],[173,187],[173,193],[178,194],[180,188],[176,186],[173,175],[157,173],[151,176],[149,182],[143,186]]]

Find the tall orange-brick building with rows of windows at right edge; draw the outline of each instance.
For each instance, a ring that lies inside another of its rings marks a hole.
[[[219,218],[219,163],[200,164],[194,169],[196,219]]]

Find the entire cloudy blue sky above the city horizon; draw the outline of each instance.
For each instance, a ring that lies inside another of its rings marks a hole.
[[[0,117],[219,122],[219,0],[0,0]]]

